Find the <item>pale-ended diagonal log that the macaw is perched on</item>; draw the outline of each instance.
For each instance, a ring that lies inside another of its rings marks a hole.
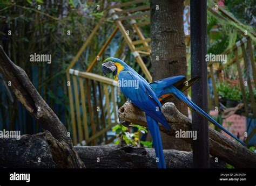
[[[165,103],[161,110],[171,127],[171,130],[167,131],[163,126],[160,126],[162,132],[175,137],[176,131],[192,130],[191,120],[180,113],[173,103]],[[133,124],[147,126],[145,113],[132,103],[126,102],[118,112],[120,121],[130,121]],[[191,138],[181,139],[192,144]],[[209,128],[209,145],[212,156],[218,157],[234,167],[256,167],[256,154],[212,128]]]

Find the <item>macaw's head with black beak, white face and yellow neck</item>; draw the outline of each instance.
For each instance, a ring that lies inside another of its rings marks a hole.
[[[102,72],[104,75],[113,73],[113,75],[116,76],[126,66],[126,63],[118,58],[107,58],[103,61]]]

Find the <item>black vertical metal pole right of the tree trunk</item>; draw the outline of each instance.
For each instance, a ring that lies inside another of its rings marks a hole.
[[[207,7],[206,0],[191,0],[191,77],[201,76],[201,80],[192,86],[192,101],[207,112]],[[192,112],[192,129],[197,131],[197,140],[193,140],[194,168],[209,168],[208,122],[196,112]]]

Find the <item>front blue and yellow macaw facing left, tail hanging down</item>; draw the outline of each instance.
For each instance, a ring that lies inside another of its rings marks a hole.
[[[161,103],[156,93],[142,76],[122,60],[107,58],[102,64],[102,71],[104,74],[113,73],[114,79],[120,83],[138,83],[138,87],[122,85],[119,85],[119,87],[127,99],[130,99],[134,105],[146,113],[147,126],[156,152],[157,167],[166,168],[158,123],[161,123],[167,130],[170,127],[161,112]]]

